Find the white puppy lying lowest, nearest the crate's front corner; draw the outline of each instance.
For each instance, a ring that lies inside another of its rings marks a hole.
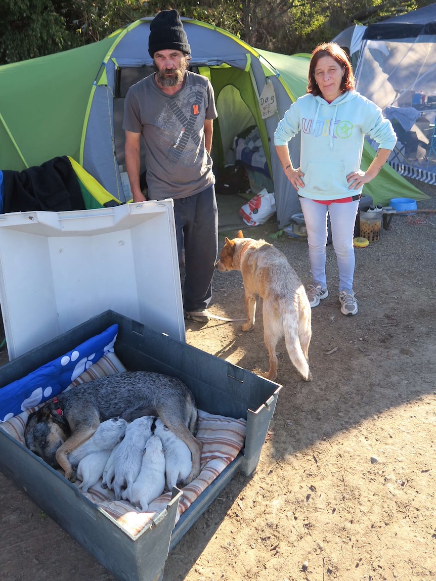
[[[149,503],[158,498],[164,489],[165,456],[162,442],[158,436],[151,436],[145,444],[140,474],[131,487],[128,499],[134,506],[140,507],[142,512],[146,512]],[[127,490],[123,492],[124,500],[127,498],[127,495],[124,497],[124,493],[127,493]]]

